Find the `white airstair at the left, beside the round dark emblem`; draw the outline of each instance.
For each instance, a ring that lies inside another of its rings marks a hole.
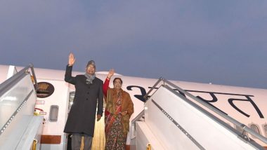
[[[34,116],[38,87],[33,65],[13,73],[0,84],[0,150],[40,149],[43,116]]]

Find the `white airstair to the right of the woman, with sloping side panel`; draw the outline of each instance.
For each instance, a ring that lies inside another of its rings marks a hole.
[[[131,149],[264,149],[249,135],[267,144],[266,137],[166,79],[160,78],[145,99],[143,111],[131,121]]]

